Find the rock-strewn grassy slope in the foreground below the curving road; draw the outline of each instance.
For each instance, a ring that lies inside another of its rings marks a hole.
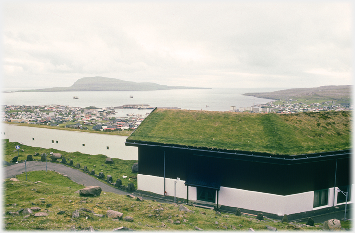
[[[35,218],[29,216],[13,217],[6,215],[3,219],[5,230],[56,230],[67,231],[72,226],[78,230],[88,229],[90,226],[94,230],[112,231],[117,227],[127,227],[140,231],[195,231],[195,226],[207,231],[225,230],[248,230],[250,227],[254,230],[266,230],[266,225],[273,226],[278,231],[283,230],[320,230],[321,227],[294,227],[288,223],[274,222],[265,219],[264,221],[256,220],[253,217],[235,216],[230,213],[222,213],[216,215],[215,211],[201,209],[193,206],[187,206],[192,212],[178,211],[178,205],[148,201],[138,202],[124,195],[118,195],[109,192],[102,192],[98,197],[81,197],[75,191],[83,188],[68,178],[53,172],[34,171],[28,173],[28,180],[25,181],[25,175],[18,175],[20,180],[9,181],[7,179],[3,183],[4,187],[4,212],[17,211],[20,208],[31,208],[38,206],[40,212],[47,212],[46,217]],[[37,182],[41,181],[41,182]],[[44,200],[40,200],[44,198]],[[69,202],[71,200],[71,202]],[[44,203],[42,202],[44,201]],[[6,204],[14,204],[17,206]],[[34,203],[35,205],[32,205]],[[46,204],[52,204],[51,207]],[[162,207],[164,210],[157,213],[155,209]],[[107,217],[99,218],[92,213],[80,211],[77,219],[72,218],[74,210],[79,208],[87,208],[96,214],[104,214],[108,209],[119,211],[125,216],[134,218],[133,222],[124,220],[112,221]],[[64,214],[58,215],[59,211],[65,211]],[[149,215],[152,215],[149,217]],[[228,216],[228,217],[227,217]],[[172,224],[167,220],[180,221],[181,224]],[[186,222],[183,222],[186,219]],[[215,222],[218,222],[217,224]],[[162,223],[165,227],[161,227]],[[190,225],[191,224],[191,225]]]

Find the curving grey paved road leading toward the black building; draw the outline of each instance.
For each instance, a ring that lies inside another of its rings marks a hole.
[[[63,164],[59,163],[47,163],[47,169],[51,171],[56,171],[61,174],[68,175],[71,180],[77,182],[78,184],[82,184],[84,186],[99,186],[102,191],[104,192],[111,192],[111,193],[118,193],[118,194],[131,194],[128,192],[124,192],[122,190],[113,188],[112,186],[109,186],[94,177],[81,172],[80,170],[65,166]],[[7,167],[3,168],[4,170],[4,178],[13,178],[16,177],[16,175],[19,175],[23,172],[25,172],[25,163],[18,163],[14,165],[10,165]],[[41,171],[41,170],[46,170],[46,163],[45,162],[26,162],[26,170],[27,171]]]

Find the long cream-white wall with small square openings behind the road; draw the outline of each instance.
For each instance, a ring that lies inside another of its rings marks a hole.
[[[27,146],[46,149],[58,149],[66,152],[84,154],[103,154],[110,158],[138,160],[138,148],[125,146],[125,136],[96,134],[59,129],[44,129],[2,124],[2,131],[10,142],[19,142]],[[32,140],[34,138],[34,140]],[[54,143],[52,143],[52,140]],[[58,141],[58,143],[56,143]],[[85,146],[83,146],[85,144]],[[106,149],[106,146],[109,149]]]

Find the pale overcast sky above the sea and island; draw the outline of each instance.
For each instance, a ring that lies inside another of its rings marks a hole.
[[[95,1],[94,1],[95,2]],[[2,3],[4,88],[352,84],[351,1]]]

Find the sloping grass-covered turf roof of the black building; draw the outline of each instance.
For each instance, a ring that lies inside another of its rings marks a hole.
[[[351,112],[154,110],[128,141],[297,155],[350,149]]]

